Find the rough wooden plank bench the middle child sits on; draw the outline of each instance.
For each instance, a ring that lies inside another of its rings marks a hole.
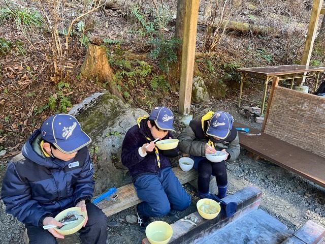
[[[198,173],[194,169],[191,169],[188,172],[184,172],[179,167],[175,167],[173,168],[173,171],[181,184],[185,184],[198,177]],[[128,184],[126,186],[118,188],[115,194],[118,194],[116,201],[102,201],[97,204],[97,206],[103,210],[106,216],[114,215],[117,212],[135,206],[136,204],[142,202],[138,198],[136,189],[134,188],[133,184]]]

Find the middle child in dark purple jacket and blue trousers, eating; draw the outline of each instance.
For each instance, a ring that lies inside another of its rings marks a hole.
[[[138,224],[145,228],[149,217],[165,216],[170,211],[183,211],[190,196],[175,176],[168,157],[176,157],[177,149],[159,150],[153,141],[171,138],[174,116],[166,107],[156,107],[150,116],[138,118],[138,125],[128,130],[122,144],[122,164],[133,178],[138,197]]]

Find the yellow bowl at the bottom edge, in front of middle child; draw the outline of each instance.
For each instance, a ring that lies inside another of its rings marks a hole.
[[[146,228],[146,236],[151,244],[166,244],[172,235],[172,227],[164,221],[151,222]]]

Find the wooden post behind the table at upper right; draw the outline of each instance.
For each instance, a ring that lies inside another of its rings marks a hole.
[[[313,8],[311,10],[310,14],[310,20],[308,25],[308,32],[307,32],[307,38],[305,42],[304,47],[304,53],[303,57],[301,59],[301,65],[309,65],[311,52],[313,50],[313,45],[316,37],[317,32],[317,25],[319,20],[319,15],[321,11],[321,7],[323,4],[323,0],[314,0]],[[306,73],[305,73],[306,74]],[[305,77],[302,79],[298,79],[297,85],[300,85],[301,83],[304,83]]]

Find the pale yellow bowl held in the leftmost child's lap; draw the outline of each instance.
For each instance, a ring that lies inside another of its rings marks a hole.
[[[64,216],[66,216],[68,214],[68,212],[70,212],[70,211],[77,211],[78,214],[83,216],[84,218],[78,217],[78,220],[75,223],[63,225],[62,228],[60,228],[60,229],[58,229],[57,227],[54,227],[55,231],[57,233],[60,233],[61,235],[71,235],[71,234],[77,232],[78,230],[80,230],[81,227],[83,226],[83,224],[85,223],[87,214],[86,214],[86,212],[82,212],[80,207],[67,208],[66,210],[59,212],[59,214],[57,214],[57,216],[55,216],[54,219],[59,221],[59,220],[63,219]]]

